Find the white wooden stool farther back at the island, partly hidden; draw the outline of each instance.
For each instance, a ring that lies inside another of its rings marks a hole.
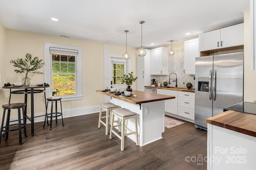
[[[99,123],[98,128],[100,128],[100,123],[106,126],[106,135],[108,135],[108,124],[110,124],[111,120],[111,111],[113,109],[117,109],[119,106],[112,104],[112,103],[102,103],[100,104],[100,115],[99,115]],[[106,110],[106,116],[102,116],[102,109]],[[102,121],[102,118],[106,117],[106,122]]]

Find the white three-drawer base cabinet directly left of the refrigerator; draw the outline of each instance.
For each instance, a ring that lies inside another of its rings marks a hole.
[[[178,92],[178,115],[188,119],[195,119],[195,94],[192,92]]]

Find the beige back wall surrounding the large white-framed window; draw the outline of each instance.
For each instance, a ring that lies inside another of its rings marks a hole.
[[[7,53],[6,68],[1,71],[8,72],[6,81],[20,82],[24,74],[15,73],[14,66],[10,64],[10,60],[17,58],[24,58],[26,53],[31,53],[44,60],[44,42],[60,43],[67,45],[82,46],[83,49],[83,100],[66,101],[62,105],[64,110],[76,109],[89,106],[97,106],[104,102],[102,94],[98,94],[95,90],[104,89],[104,45],[103,43],[96,43],[84,41],[79,39],[71,39],[66,37],[58,37],[52,35],[44,35],[38,33],[31,33],[25,31],[17,31],[7,29],[7,45],[5,47]],[[1,36],[2,37],[2,36]],[[136,56],[133,48],[128,48],[129,53]],[[109,53],[123,54],[125,47],[117,45],[109,45]],[[135,54],[135,55],[134,55]],[[132,70],[136,74],[136,59],[132,57]],[[43,69],[42,69],[43,71]],[[32,79],[31,84],[37,84],[44,79],[44,75],[29,73]],[[46,82],[47,83],[47,82]],[[133,85],[135,87],[135,85]],[[134,88],[135,89],[135,88]],[[44,111],[44,104],[42,103],[43,94],[36,94],[35,97],[35,113],[42,113]],[[5,95],[8,98],[9,93]],[[11,102],[24,100],[22,95],[12,96]],[[29,99],[29,98],[28,98]],[[30,102],[30,100],[28,100]],[[28,111],[30,106],[28,106]],[[30,114],[30,112],[29,112]]]

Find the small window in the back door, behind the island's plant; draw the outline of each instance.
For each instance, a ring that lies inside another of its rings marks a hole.
[[[113,63],[113,84],[122,84],[124,77],[124,63]]]

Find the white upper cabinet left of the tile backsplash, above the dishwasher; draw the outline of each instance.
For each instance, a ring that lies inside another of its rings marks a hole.
[[[168,75],[168,48],[159,47],[151,50],[151,75]]]

